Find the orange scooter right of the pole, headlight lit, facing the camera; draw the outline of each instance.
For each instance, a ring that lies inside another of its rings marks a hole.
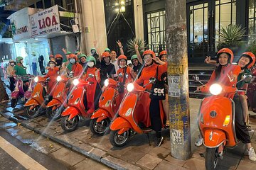
[[[240,81],[250,81],[251,78],[250,74],[245,74]],[[193,76],[193,79],[201,83],[197,76]],[[204,85],[201,89],[201,92],[213,95],[203,98],[198,111],[198,128],[206,146],[207,170],[215,169],[218,159],[223,159],[226,147],[233,148],[238,144],[235,133],[235,103],[226,96],[235,94],[236,91],[240,90],[223,84]]]

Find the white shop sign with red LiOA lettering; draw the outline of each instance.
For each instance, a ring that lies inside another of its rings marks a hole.
[[[32,36],[60,31],[60,17],[57,5],[35,13],[29,18]]]

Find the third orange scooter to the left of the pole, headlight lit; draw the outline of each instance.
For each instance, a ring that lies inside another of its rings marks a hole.
[[[94,77],[93,74],[89,74],[88,78]],[[83,118],[90,117],[91,114],[88,114],[85,111],[84,98],[87,88],[90,88],[90,85],[93,82],[83,80],[83,79],[74,79],[73,80],[73,89],[70,92],[68,97],[68,107],[65,108],[65,111],[61,114],[61,128],[65,132],[72,132],[78,128],[78,123]]]

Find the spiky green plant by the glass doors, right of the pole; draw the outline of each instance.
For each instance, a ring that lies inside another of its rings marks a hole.
[[[226,47],[242,45],[242,38],[245,35],[245,28],[237,25],[229,25],[226,28],[220,28],[219,45]]]

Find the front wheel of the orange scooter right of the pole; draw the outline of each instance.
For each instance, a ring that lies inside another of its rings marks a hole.
[[[206,148],[206,170],[215,169],[218,164],[218,147]]]

